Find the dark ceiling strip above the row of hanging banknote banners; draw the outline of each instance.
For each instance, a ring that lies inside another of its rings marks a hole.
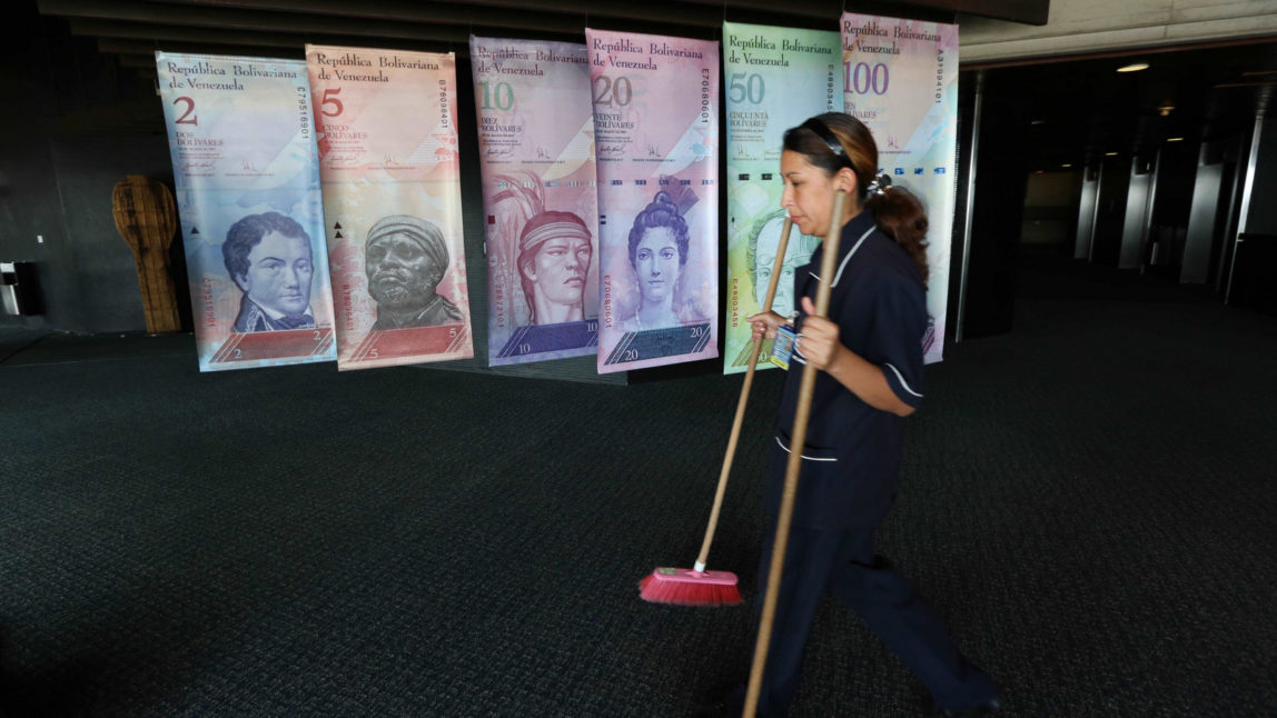
[[[868,0],[856,10],[955,22],[962,11],[1046,22],[1048,0]],[[581,41],[585,27],[714,38],[724,19],[835,29],[843,0],[40,0],[106,55],[146,68],[153,52],[301,57],[310,43],[456,51],[470,34]],[[902,8],[903,6],[903,8]]]

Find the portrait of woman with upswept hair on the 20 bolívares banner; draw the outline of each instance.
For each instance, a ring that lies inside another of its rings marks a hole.
[[[669,193],[659,191],[630,228],[630,265],[635,270],[638,305],[621,320],[622,329],[644,332],[704,320],[678,301],[687,251],[687,222]]]

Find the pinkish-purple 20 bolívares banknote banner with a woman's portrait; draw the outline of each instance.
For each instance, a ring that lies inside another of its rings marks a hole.
[[[718,356],[719,45],[586,28],[599,371]]]

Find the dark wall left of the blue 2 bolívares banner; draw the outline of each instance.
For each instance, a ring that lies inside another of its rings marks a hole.
[[[143,330],[111,190],[130,173],[171,185],[153,82],[73,37],[64,20],[42,18],[34,3],[6,8],[5,20],[0,92],[20,101],[0,114],[0,260],[36,264],[45,314],[0,315],[0,325]]]

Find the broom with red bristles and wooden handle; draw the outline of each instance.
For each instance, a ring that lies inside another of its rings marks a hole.
[[[762,311],[771,310],[771,300],[776,296],[776,284],[785,261],[785,247],[789,245],[789,230],[793,221],[785,217],[780,230],[780,244],[776,245],[776,259],[771,267],[771,281],[767,283],[767,296],[762,300]],[[741,437],[741,425],[744,423],[744,407],[750,402],[750,388],[753,386],[755,365],[762,337],[750,344],[750,367],[744,372],[741,386],[741,399],[736,404],[736,421],[732,422],[732,436],[727,441],[727,455],[719,472],[718,491],[714,494],[714,508],[710,510],[710,523],[705,528],[705,541],[701,553],[692,569],[658,568],[638,582],[638,597],[653,603],[677,603],[681,606],[736,606],[741,603],[741,589],[737,588],[736,574],[730,571],[706,571],[705,562],[710,556],[710,543],[714,542],[714,529],[718,528],[719,511],[723,508],[723,495],[727,492],[727,477],[732,472],[732,459],[736,457],[737,440]]]

